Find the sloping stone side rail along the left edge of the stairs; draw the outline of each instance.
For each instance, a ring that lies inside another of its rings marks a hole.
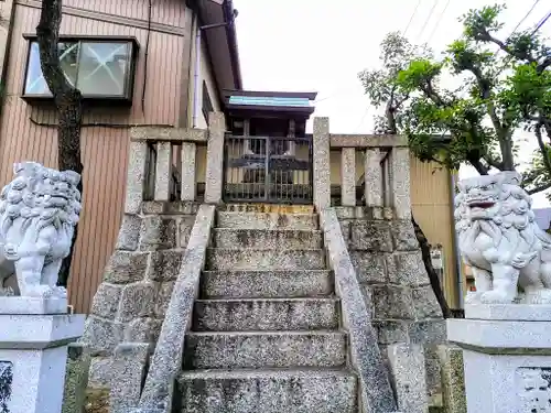
[[[182,368],[184,337],[190,328],[193,303],[215,219],[214,205],[201,205],[172,291],[155,351],[151,359],[139,411],[170,412],[173,383]]]

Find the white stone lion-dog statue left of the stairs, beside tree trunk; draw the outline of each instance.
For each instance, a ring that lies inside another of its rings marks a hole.
[[[34,162],[13,165],[0,193],[0,295],[66,297],[56,286],[80,214],[80,175]]]

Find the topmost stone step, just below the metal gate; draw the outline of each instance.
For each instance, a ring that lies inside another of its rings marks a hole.
[[[239,229],[317,229],[317,215],[274,213],[225,213],[216,219],[218,228]]]

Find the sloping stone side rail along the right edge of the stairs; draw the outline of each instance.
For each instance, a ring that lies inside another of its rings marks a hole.
[[[361,413],[388,413],[397,410],[377,335],[348,256],[336,211],[320,211],[329,265],[335,273],[335,290],[342,302],[343,323],[350,339],[350,362],[360,384]]]

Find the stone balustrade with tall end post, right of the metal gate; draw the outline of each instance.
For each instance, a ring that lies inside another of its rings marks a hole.
[[[410,154],[400,135],[332,134],[328,118],[314,119],[314,204],[331,205],[331,152],[341,151],[341,205],[356,206],[357,176],[375,218],[410,219]],[[357,170],[357,156],[363,167]],[[392,213],[391,216],[388,216]]]

